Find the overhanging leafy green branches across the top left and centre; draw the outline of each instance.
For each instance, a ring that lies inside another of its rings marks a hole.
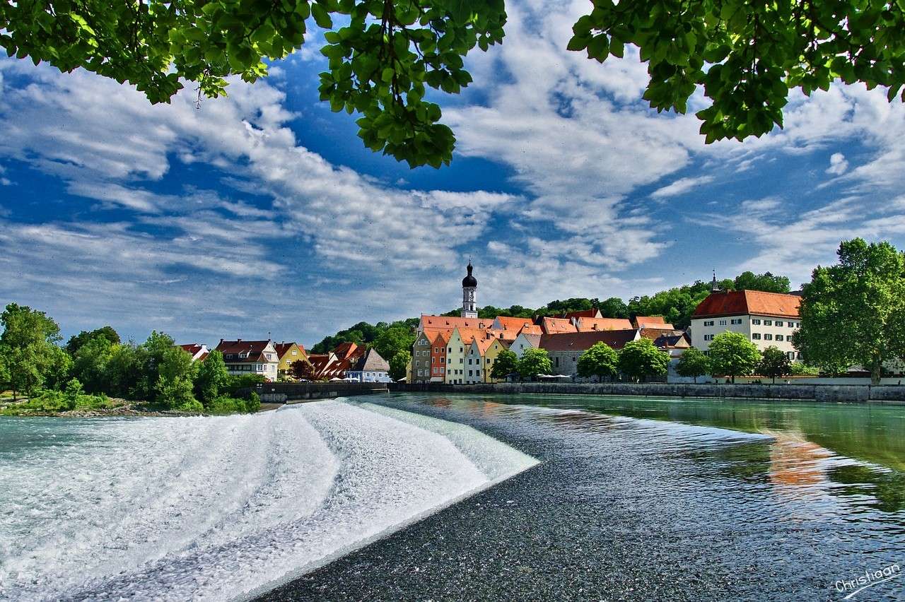
[[[152,103],[169,102],[182,80],[194,82],[200,105],[202,95],[224,96],[231,75],[249,82],[266,75],[268,60],[301,46],[311,21],[332,30],[320,49],[329,59],[320,99],[361,116],[365,146],[412,167],[448,164],[452,130],[425,97],[472,81],[462,57],[502,41],[502,0],[5,2],[0,45],[35,64],[129,81]]]

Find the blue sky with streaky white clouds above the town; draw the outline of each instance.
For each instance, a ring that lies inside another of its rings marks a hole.
[[[411,170],[318,100],[320,34],[195,108],[0,59],[0,303],[63,334],[316,343],[460,306],[651,294],[750,269],[805,282],[840,240],[905,247],[905,107],[886,90],[793,92],[785,127],[705,145],[642,99],[627,49],[567,52],[586,0],[510,0],[506,38],[437,94],[452,165]]]

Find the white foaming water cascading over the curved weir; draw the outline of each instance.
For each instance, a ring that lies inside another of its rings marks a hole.
[[[5,419],[0,598],[247,597],[534,464],[467,426],[340,400]]]

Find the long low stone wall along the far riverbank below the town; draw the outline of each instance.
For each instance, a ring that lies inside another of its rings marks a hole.
[[[661,382],[500,382],[472,385],[443,383],[389,384],[391,391],[432,393],[503,393],[617,395],[666,398],[719,398],[743,400],[800,400],[861,403],[905,403],[905,386],[824,384],[713,384]]]

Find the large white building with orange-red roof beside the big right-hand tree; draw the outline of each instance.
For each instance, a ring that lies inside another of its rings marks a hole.
[[[715,290],[691,315],[691,344],[703,352],[717,334],[744,334],[763,351],[773,345],[791,360],[801,353],[792,345],[792,334],[801,325],[801,297],[759,290]]]

